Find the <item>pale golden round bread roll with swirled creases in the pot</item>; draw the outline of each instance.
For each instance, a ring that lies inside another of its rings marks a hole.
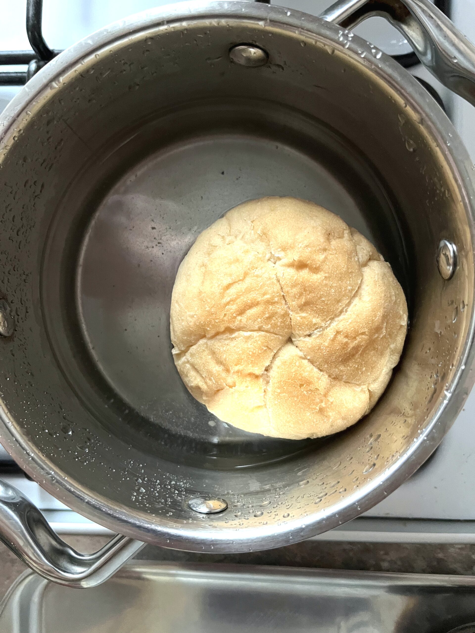
[[[179,267],[170,330],[194,398],[273,437],[336,433],[376,404],[400,358],[407,305],[390,265],[317,204],[240,204]]]

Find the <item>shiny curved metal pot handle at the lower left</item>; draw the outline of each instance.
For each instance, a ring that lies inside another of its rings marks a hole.
[[[34,572],[68,587],[94,587],[145,543],[116,534],[94,554],[80,554],[49,527],[23,494],[0,479],[0,541]]]

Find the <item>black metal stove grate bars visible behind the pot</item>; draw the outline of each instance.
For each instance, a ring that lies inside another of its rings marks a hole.
[[[264,0],[270,3],[270,0]],[[434,0],[436,7],[450,17],[450,5],[452,0]],[[26,84],[35,72],[52,60],[61,51],[54,51],[44,41],[42,34],[42,9],[43,0],[27,0],[26,28],[31,51],[0,51],[1,66],[28,65],[26,71],[0,72],[0,85]],[[403,55],[393,55],[404,68],[410,68],[419,63],[414,52]]]

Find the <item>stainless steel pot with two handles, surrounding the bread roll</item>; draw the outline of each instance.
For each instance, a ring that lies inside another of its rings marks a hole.
[[[332,529],[407,479],[455,419],[472,385],[475,172],[432,97],[338,25],[374,11],[475,103],[475,49],[427,0],[351,0],[324,20],[231,1],[104,28],[4,113],[1,441],[56,498],[126,535],[80,555],[5,485],[0,537],[42,575],[91,586],[142,541],[238,552]],[[182,257],[267,194],[343,216],[409,302],[390,387],[321,441],[227,427],[170,354]]]

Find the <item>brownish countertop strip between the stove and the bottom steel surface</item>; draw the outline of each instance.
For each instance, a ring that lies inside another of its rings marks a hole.
[[[99,549],[106,536],[63,536],[79,551]],[[475,575],[475,545],[421,543],[364,543],[303,541],[284,548],[247,554],[194,554],[147,546],[136,556],[141,560],[189,561],[200,563],[241,563],[320,567],[377,572],[448,573]],[[6,546],[0,543],[0,599],[13,581],[26,569]]]

